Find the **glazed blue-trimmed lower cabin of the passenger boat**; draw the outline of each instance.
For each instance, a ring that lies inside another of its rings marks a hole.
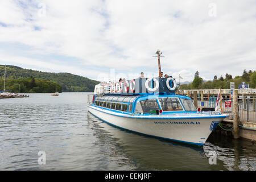
[[[174,114],[195,112],[191,98],[179,95],[113,95],[96,96],[93,106],[126,114]]]

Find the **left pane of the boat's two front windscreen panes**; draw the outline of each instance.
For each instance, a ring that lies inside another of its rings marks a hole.
[[[158,98],[163,111],[179,111],[183,110],[180,101],[177,98],[165,97]]]

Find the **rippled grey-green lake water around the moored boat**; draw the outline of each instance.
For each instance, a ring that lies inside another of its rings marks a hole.
[[[250,141],[211,136],[200,148],[123,131],[88,113],[87,94],[0,100],[0,170],[256,169]]]

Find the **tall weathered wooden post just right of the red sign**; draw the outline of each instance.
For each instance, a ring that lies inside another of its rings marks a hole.
[[[233,121],[233,137],[235,139],[239,138],[238,133],[238,121],[239,121],[239,115],[238,115],[238,90],[234,90],[233,93],[233,114],[234,114],[234,121]]]

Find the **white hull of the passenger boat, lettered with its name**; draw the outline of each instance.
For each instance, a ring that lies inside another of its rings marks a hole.
[[[88,110],[97,118],[121,129],[177,142],[203,146],[214,127],[224,118],[139,118],[109,114],[97,107]]]

